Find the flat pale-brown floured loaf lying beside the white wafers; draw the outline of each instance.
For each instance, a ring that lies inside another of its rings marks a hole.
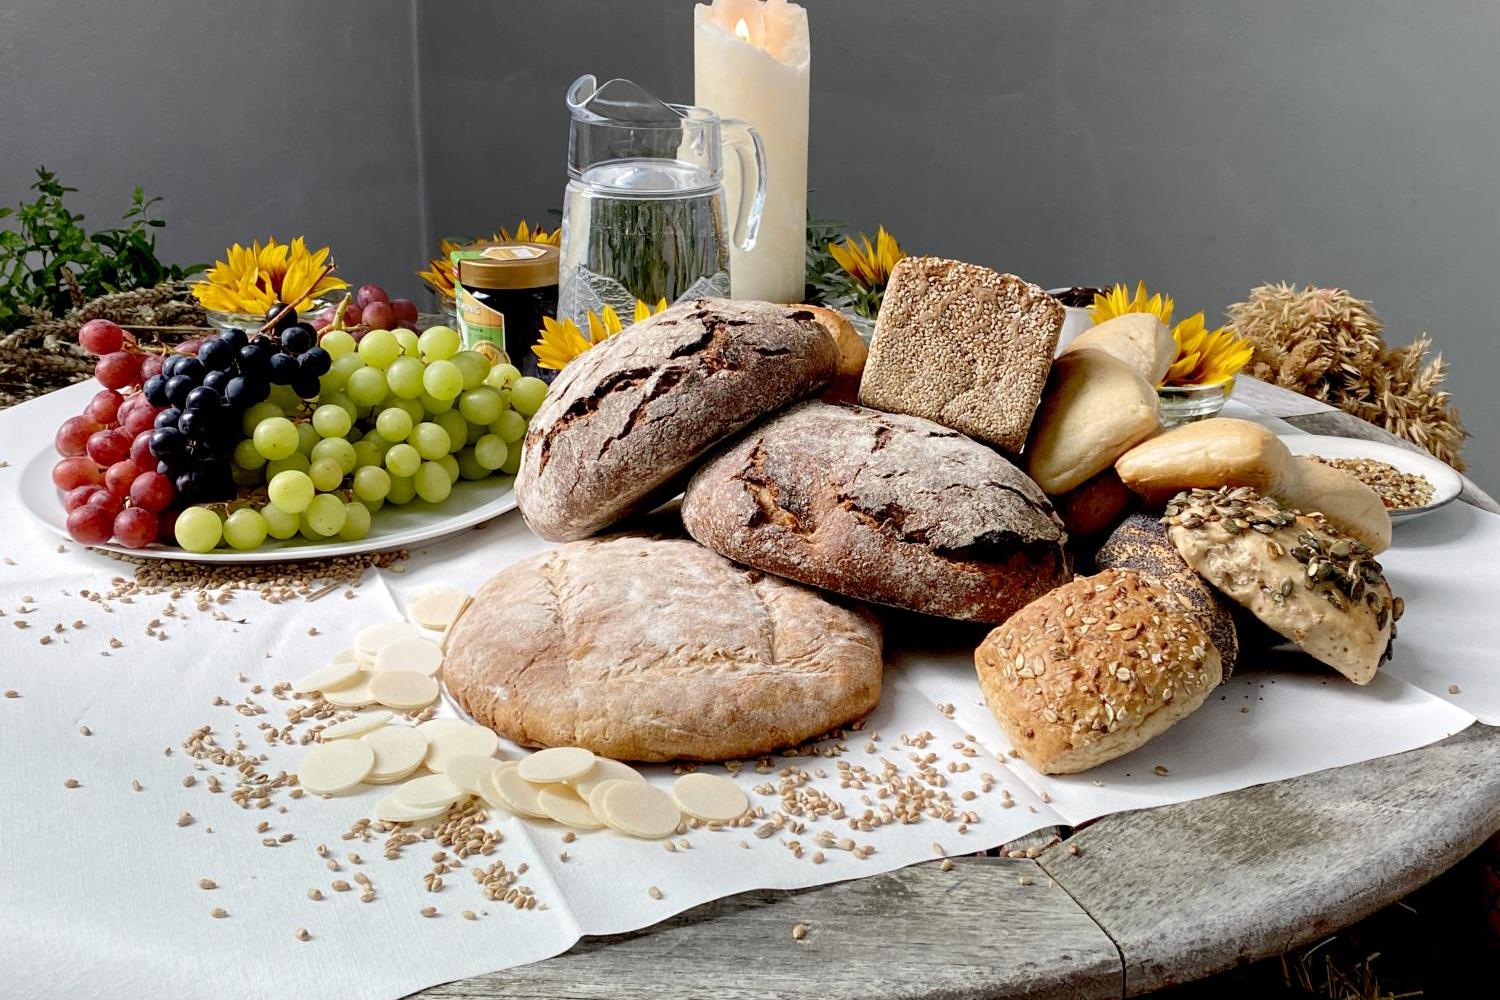
[[[684,538],[574,541],[492,576],[448,631],[444,682],[528,747],[726,760],[874,708],[872,616]]]

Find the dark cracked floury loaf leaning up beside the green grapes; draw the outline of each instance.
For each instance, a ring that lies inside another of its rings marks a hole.
[[[664,499],[722,438],[822,388],[836,364],[807,309],[678,303],[562,369],[526,432],[516,504],[543,538],[602,531]]]

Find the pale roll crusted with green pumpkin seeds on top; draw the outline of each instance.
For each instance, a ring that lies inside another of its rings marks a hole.
[[[1390,655],[1401,598],[1370,549],[1250,487],[1191,490],[1167,537],[1204,580],[1354,684]]]

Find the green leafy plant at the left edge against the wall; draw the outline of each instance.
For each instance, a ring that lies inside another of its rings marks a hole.
[[[140,187],[122,217],[124,225],[88,232],[82,213],[64,196],[63,184],[45,166],[32,184],[36,201],[0,207],[0,330],[10,331],[39,318],[60,316],[75,304],[110,292],[152,288],[204,268],[164,264],[156,255],[156,229],[166,223],[152,213],[160,198]]]

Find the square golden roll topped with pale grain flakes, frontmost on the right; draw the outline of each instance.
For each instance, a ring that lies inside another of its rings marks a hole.
[[[1000,729],[1042,774],[1128,754],[1203,705],[1221,672],[1197,615],[1132,570],[1078,577],[1032,601],[974,661]]]

